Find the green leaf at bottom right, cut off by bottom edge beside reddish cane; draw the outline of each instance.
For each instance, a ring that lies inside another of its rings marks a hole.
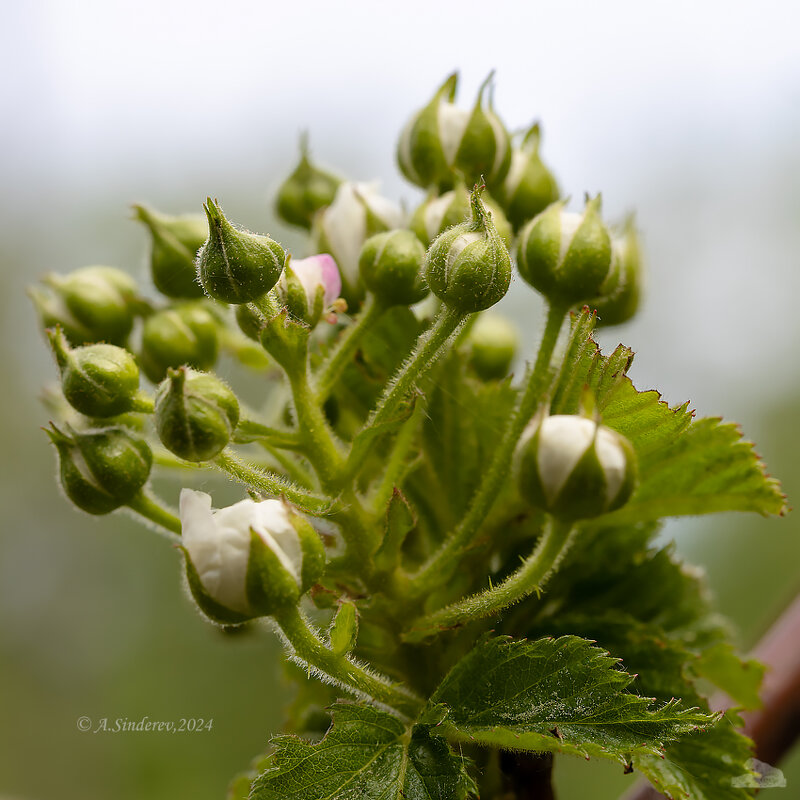
[[[664,757],[635,753],[633,765],[671,800],[745,800],[758,785],[747,763],[751,750],[750,739],[723,719],[671,744]]]

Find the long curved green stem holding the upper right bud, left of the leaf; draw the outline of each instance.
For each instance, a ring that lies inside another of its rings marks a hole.
[[[514,448],[547,388],[550,361],[566,313],[567,309],[561,306],[550,306],[548,309],[547,323],[539,345],[536,363],[529,372],[525,391],[517,404],[510,424],[492,455],[480,488],[472,498],[466,515],[453,533],[412,577],[407,587],[411,597],[417,599],[424,597],[441,585],[442,580],[446,579],[446,576],[450,574],[449,571],[455,568],[458,559],[478,534],[494,500],[500,494],[503,482],[508,480]]]

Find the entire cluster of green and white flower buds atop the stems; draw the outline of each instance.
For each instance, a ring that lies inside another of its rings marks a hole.
[[[152,284],[166,302],[145,297],[126,273],[103,266],[50,275],[31,291],[64,399],[77,412],[72,427],[53,425],[48,434],[64,491],[78,508],[105,514],[143,507],[153,463],[148,436],[168,451],[157,453],[164,459],[222,465],[232,445],[249,440],[246,433],[237,439],[245,414],[213,372],[220,358],[257,342],[284,368],[293,392],[311,392],[315,365],[331,350],[337,363],[337,332],[320,322],[337,323],[345,309],[358,320],[365,300],[365,318],[377,318],[432,294],[425,305],[443,312],[437,319],[451,327],[437,330],[452,342],[458,325],[505,296],[516,260],[523,280],[559,310],[589,303],[608,324],[633,315],[641,258],[632,223],[610,232],[599,197],[587,200],[581,214],[567,211],[539,155],[539,126],[517,141],[494,111],[491,76],[470,110],[454,103],[457,82],[457,75],[448,77],[400,137],[400,168],[427,192],[410,219],[374,184],[345,181],[314,165],[304,139],[276,211],[308,231],[307,257],[292,258],[270,236],[233,224],[211,198],[204,215],[170,216],[137,205],[135,218],[150,234]],[[470,380],[505,378],[516,332],[498,315],[473,321],[458,340],[468,351]],[[434,334],[430,341],[437,341]],[[140,372],[153,384],[150,394],[140,387]],[[323,403],[322,395],[314,402]],[[322,408],[309,411],[308,397],[293,401],[282,422],[297,422],[292,446],[316,469],[314,446],[332,421]],[[326,452],[337,467],[344,447],[335,436],[329,441]],[[556,416],[538,419],[525,433],[516,474],[535,506],[578,520],[626,501],[633,463],[622,437],[592,420]],[[336,485],[331,470],[316,471],[323,489],[326,480]],[[283,499],[244,500],[213,512],[208,495],[187,490],[180,506],[189,586],[217,622],[296,604],[323,574],[319,534]],[[352,607],[341,609],[331,641],[346,652],[355,622],[344,620],[356,617]]]

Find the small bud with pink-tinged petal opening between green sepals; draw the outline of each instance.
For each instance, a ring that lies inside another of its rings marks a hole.
[[[295,319],[314,327],[342,291],[336,262],[327,253],[288,260],[278,281],[278,300]],[[335,317],[334,317],[335,319]]]

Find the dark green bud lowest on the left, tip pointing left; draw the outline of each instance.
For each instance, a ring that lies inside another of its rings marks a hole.
[[[129,503],[147,482],[153,455],[143,439],[123,428],[64,433],[45,431],[56,446],[61,486],[78,508],[108,514]]]

